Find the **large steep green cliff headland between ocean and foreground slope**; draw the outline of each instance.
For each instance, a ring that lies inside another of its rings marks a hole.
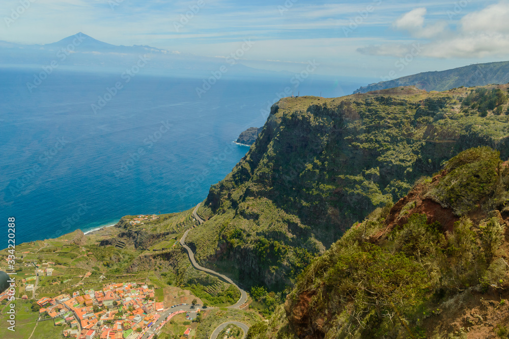
[[[208,220],[187,242],[202,265],[284,288],[355,221],[453,155],[488,145],[506,158],[506,110],[505,85],[281,99],[246,156],[211,187],[198,211]]]

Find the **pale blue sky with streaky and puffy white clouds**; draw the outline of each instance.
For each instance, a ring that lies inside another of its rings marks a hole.
[[[509,60],[509,0],[2,0],[0,16],[9,42],[83,32],[225,58],[248,41],[246,66],[298,72],[314,62],[317,74],[373,82]]]

